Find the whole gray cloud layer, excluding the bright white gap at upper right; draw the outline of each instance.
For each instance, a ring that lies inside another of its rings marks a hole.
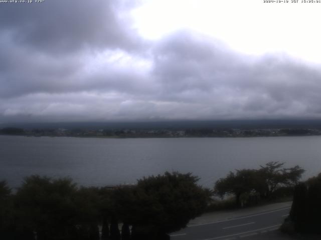
[[[188,29],[147,41],[131,2],[2,5],[0,121],[321,116],[320,65]]]

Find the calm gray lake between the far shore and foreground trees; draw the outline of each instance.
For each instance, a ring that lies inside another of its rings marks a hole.
[[[69,176],[80,185],[135,183],[165,171],[193,172],[212,187],[230,170],[268,161],[321,172],[321,136],[251,138],[77,138],[0,135],[0,179]]]

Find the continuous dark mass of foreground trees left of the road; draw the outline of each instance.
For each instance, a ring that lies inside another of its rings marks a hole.
[[[78,187],[32,175],[15,193],[0,181],[0,239],[170,239],[207,206],[210,191],[197,181],[165,172],[130,187]]]

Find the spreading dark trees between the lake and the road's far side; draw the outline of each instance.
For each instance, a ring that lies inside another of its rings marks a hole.
[[[292,191],[304,170],[298,165],[284,168],[284,163],[270,161],[259,169],[240,169],[230,171],[226,177],[216,181],[214,193],[220,197],[226,194],[235,196],[236,205],[241,205],[242,195],[255,195],[263,199],[271,199],[280,189]]]

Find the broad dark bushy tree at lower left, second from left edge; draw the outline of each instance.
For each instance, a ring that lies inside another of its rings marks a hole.
[[[16,194],[18,226],[37,239],[74,239],[76,184],[69,178],[26,177]]]

